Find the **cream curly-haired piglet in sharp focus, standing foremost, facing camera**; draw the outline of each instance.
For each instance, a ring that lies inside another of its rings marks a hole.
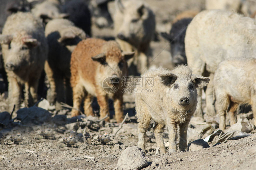
[[[196,110],[196,88],[206,86],[210,78],[192,74],[192,70],[185,65],[179,65],[171,71],[150,68],[141,77],[144,84],[136,87],[138,93],[135,93],[136,117],[139,123],[138,147],[145,150],[146,131],[152,119],[155,121],[154,135],[160,153],[166,153],[163,141],[166,125],[169,131],[169,150],[177,151],[177,125],[179,125],[179,147],[181,151],[185,151],[188,124]],[[153,78],[153,85],[145,84],[146,78]]]

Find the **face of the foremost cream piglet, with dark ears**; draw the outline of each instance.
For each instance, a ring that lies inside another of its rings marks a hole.
[[[208,77],[192,75],[191,72],[188,74],[160,74],[159,78],[165,87],[164,105],[174,112],[194,111],[197,104],[196,88],[202,88],[210,81]]]

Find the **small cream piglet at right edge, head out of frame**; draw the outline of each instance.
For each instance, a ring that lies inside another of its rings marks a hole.
[[[221,62],[215,71],[214,95],[216,111],[220,116],[219,128],[226,128],[226,112],[230,115],[230,125],[236,123],[239,104],[252,105],[256,118],[256,59],[234,58]],[[256,126],[256,119],[254,121]]]

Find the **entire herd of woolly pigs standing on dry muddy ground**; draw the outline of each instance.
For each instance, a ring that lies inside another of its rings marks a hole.
[[[1,1],[1,74],[8,82],[8,111],[14,105],[18,110],[21,102],[29,107],[38,101],[44,71],[49,84],[47,100],[56,110],[64,102],[73,105],[71,116],[78,116],[83,103],[85,115],[94,115],[92,101],[96,97],[100,118],[105,118],[108,100],[113,99],[117,123],[124,119],[125,87],[108,93],[102,87],[104,80],[112,87],[129,75],[153,77],[154,86],[143,82],[135,93],[138,146],[144,150],[151,120],[160,153],[167,152],[163,142],[166,126],[169,150],[177,151],[177,125],[179,150],[187,150],[190,119],[203,116],[202,89],[205,114],[219,114],[220,129],[226,128],[226,113],[230,124],[236,123],[240,104],[251,105],[256,118],[256,22],[254,9],[246,1],[206,0],[208,10],[178,15],[170,33],[161,33],[170,41],[173,70],[148,66],[150,42],[157,34],[150,6],[143,1],[115,0],[112,20],[107,3]],[[90,38],[92,24],[114,27],[115,41]],[[145,89],[152,93],[143,93]]]

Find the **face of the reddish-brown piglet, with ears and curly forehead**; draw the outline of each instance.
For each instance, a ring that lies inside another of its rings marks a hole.
[[[108,47],[107,47],[108,46]],[[103,47],[104,48],[104,47]],[[100,86],[118,86],[121,85],[121,78],[127,76],[127,60],[133,57],[134,52],[121,52],[116,42],[107,42],[105,53],[98,54],[92,59],[99,62],[97,68],[97,82]]]

